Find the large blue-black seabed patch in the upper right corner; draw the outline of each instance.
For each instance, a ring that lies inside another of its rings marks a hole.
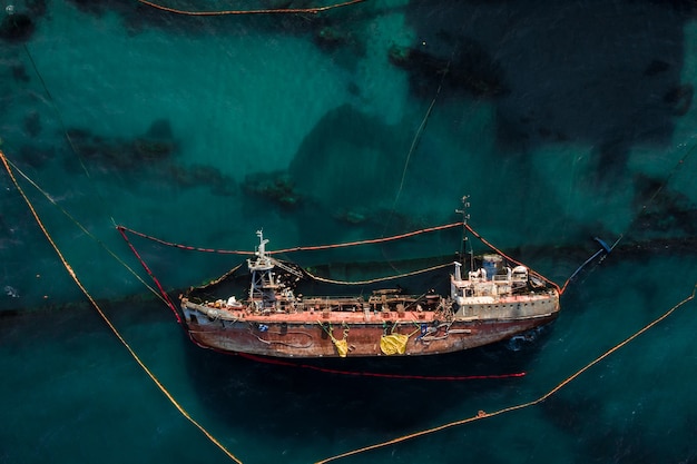
[[[471,38],[479,55],[495,57],[508,90],[494,100],[498,142],[509,151],[560,141],[597,146],[596,170],[611,182],[627,150],[665,147],[675,118],[691,106],[691,86],[680,76],[683,30],[691,18],[684,8],[635,1],[411,4],[413,48],[429,57],[413,68],[412,80],[433,62],[441,71],[449,61],[457,65],[458,43]],[[436,85],[433,79],[430,92],[418,93],[430,98]]]

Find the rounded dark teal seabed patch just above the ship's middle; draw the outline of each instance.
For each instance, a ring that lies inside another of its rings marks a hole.
[[[344,105],[330,110],[301,144],[288,174],[294,191],[336,219],[363,223],[389,209],[408,141],[376,117]]]

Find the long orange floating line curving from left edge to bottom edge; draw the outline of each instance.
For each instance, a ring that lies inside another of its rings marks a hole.
[[[242,464],[242,461],[239,461],[234,454],[232,454],[215,436],[213,436],[203,425],[200,425],[194,417],[192,417],[189,415],[189,413],[184,408],[184,406],[181,406],[174,398],[174,396],[169,393],[169,391],[167,391],[167,388],[158,381],[158,378],[155,376],[155,374],[153,374],[153,372],[145,365],[145,363],[140,359],[140,357],[138,357],[136,352],[130,347],[128,342],[126,342],[126,339],[121,336],[121,334],[116,328],[116,326],[114,324],[111,324],[111,320],[107,317],[106,313],[101,309],[101,307],[97,304],[95,298],[92,298],[90,293],[82,285],[82,283],[78,278],[77,274],[75,273],[75,270],[72,269],[72,267],[70,266],[70,264],[68,263],[68,260],[66,259],[63,254],[60,251],[60,248],[58,248],[58,245],[56,245],[56,241],[53,241],[51,235],[49,234],[48,229],[43,225],[43,221],[41,221],[41,218],[39,217],[39,214],[35,209],[35,207],[31,204],[31,201],[29,200],[29,197],[27,197],[27,195],[24,194],[24,190],[21,188],[21,186],[17,181],[17,178],[14,177],[14,174],[12,172],[12,169],[10,168],[8,159],[6,158],[6,156],[2,152],[2,150],[0,150],[0,159],[2,160],[2,164],[4,165],[4,168],[7,169],[8,174],[10,175],[12,184],[14,184],[14,187],[17,188],[19,194],[24,199],[24,203],[27,203],[27,206],[29,207],[29,210],[31,211],[35,220],[37,221],[37,224],[39,225],[39,228],[41,229],[41,231],[46,236],[47,240],[49,241],[49,244],[51,245],[51,247],[53,248],[53,250],[58,255],[58,258],[62,263],[63,267],[66,268],[66,270],[68,272],[68,274],[72,278],[72,280],[76,283],[78,288],[80,288],[82,294],[87,297],[87,299],[89,299],[89,302],[95,307],[95,309],[97,309],[97,313],[99,314],[99,316],[104,319],[104,322],[107,324],[107,326],[116,335],[116,337],[119,339],[119,342],[121,342],[121,345],[124,345],[124,347],[128,351],[130,356],[136,361],[136,363],[138,363],[140,368],[148,375],[148,377],[150,377],[153,383],[159,388],[159,391],[167,397],[167,399],[169,399],[169,402],[177,408],[177,411],[179,411],[179,413],[186,419],[188,419],[194,426],[196,426],[196,428],[198,428],[213,444],[215,444],[223,453],[225,453],[225,455],[227,457],[229,457],[230,460],[233,460],[234,462],[236,462],[238,464]]]

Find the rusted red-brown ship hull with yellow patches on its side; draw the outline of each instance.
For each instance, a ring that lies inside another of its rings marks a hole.
[[[524,302],[469,307],[450,320],[425,310],[258,315],[188,300],[183,302],[183,309],[192,338],[220,352],[301,358],[422,356],[488,345],[548,324],[558,315],[559,298],[549,294],[534,300],[526,297]],[[385,349],[385,342],[400,346]]]

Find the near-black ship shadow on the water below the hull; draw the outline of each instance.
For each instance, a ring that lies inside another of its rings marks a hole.
[[[370,427],[375,436],[431,426],[462,398],[504,394],[538,355],[553,324],[529,337],[419,357],[256,361],[184,348],[186,369],[207,413],[256,433],[327,440]],[[503,376],[503,378],[501,378]],[[413,378],[408,378],[413,377]],[[422,377],[422,378],[419,378]],[[451,377],[429,379],[429,377]],[[328,435],[328,436],[327,436]]]

